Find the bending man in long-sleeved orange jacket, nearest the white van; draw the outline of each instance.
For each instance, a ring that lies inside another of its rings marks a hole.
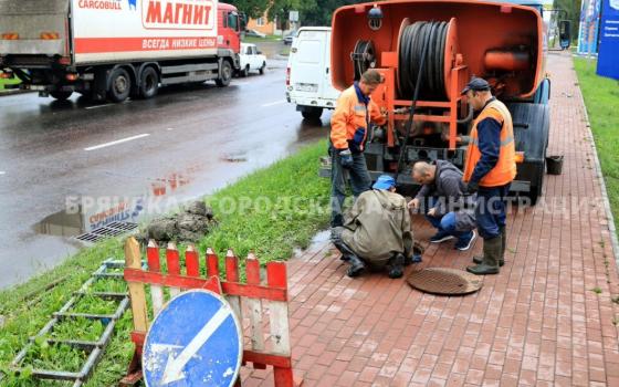
[[[364,157],[364,147],[370,122],[385,125],[386,117],[370,100],[370,94],[382,82],[376,70],[368,70],[359,82],[344,92],[337,100],[331,118],[329,155],[332,157],[331,226],[344,224],[342,207],[346,199],[345,172],[350,176],[350,188],[357,198],[370,189],[371,178]]]

